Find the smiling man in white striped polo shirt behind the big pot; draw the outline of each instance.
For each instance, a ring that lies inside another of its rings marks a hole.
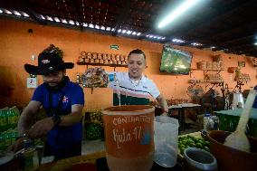
[[[156,84],[143,74],[147,68],[145,53],[139,49],[129,52],[128,68],[129,72],[109,72],[109,76],[115,77],[109,82],[109,88],[113,89],[113,105],[119,105],[119,97],[120,105],[149,105],[152,97],[158,101],[162,115],[167,116],[167,100]]]

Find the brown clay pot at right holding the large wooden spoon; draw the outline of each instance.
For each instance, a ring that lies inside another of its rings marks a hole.
[[[251,152],[224,146],[230,132],[213,130],[209,132],[211,153],[216,157],[219,171],[253,171],[257,168],[257,138],[248,137]]]

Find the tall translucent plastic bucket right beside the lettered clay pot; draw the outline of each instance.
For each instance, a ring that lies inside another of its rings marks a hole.
[[[159,166],[172,167],[177,159],[178,121],[170,117],[155,118],[155,162]]]

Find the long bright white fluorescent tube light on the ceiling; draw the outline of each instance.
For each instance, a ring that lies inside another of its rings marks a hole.
[[[167,24],[170,24],[171,22],[176,20],[176,18],[179,15],[185,13],[186,10],[188,10],[189,8],[191,8],[192,6],[194,6],[195,4],[197,4],[200,1],[201,0],[186,0],[182,5],[179,5],[175,9],[175,11],[172,11],[170,14],[167,14],[167,17],[165,17],[159,24],[157,24],[157,27],[163,28],[163,27],[167,26]]]

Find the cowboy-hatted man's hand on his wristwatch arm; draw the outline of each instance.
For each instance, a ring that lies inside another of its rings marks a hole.
[[[41,119],[37,121],[35,124],[33,124],[33,126],[28,131],[28,135],[31,138],[42,138],[53,127],[54,123],[52,118]]]

